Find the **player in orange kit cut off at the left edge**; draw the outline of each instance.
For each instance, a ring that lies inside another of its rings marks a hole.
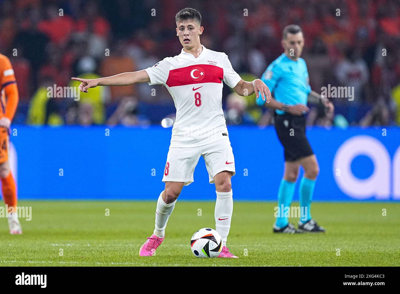
[[[10,234],[22,234],[18,220],[17,193],[14,177],[8,163],[9,130],[18,105],[18,88],[10,60],[0,54],[0,180],[2,196],[8,206]]]

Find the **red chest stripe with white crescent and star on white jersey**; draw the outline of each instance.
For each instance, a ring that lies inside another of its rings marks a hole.
[[[196,64],[170,70],[168,87],[202,83],[218,83],[224,79],[224,70],[212,64]]]

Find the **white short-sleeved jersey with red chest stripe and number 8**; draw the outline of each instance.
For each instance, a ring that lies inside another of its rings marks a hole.
[[[198,147],[228,138],[222,110],[222,80],[233,88],[240,76],[223,52],[204,46],[198,58],[182,52],[146,68],[149,85],[165,85],[176,108],[172,147]],[[225,134],[225,135],[223,135]]]

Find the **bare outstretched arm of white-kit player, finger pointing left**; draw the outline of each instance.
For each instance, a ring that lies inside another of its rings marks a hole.
[[[81,92],[88,92],[89,88],[97,86],[127,86],[131,84],[150,82],[150,77],[146,70],[139,70],[137,72],[124,72],[122,74],[116,74],[115,76],[107,76],[105,78],[98,79],[82,79],[82,78],[71,78],[81,82],[79,90]]]

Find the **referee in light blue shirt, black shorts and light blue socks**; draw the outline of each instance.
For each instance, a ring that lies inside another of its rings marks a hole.
[[[325,232],[311,218],[310,206],[316,178],[319,173],[317,158],[306,137],[307,102],[323,104],[326,112],[333,111],[332,102],[311,90],[308,70],[304,59],[300,58],[304,47],[304,37],[300,26],[286,26],[282,34],[284,53],[266,69],[261,80],[274,91],[274,100],[267,106],[275,109],[276,134],[284,148],[285,171],[278,191],[280,212],[274,224],[275,233]],[[258,94],[256,102],[264,105],[264,97]],[[300,181],[299,200],[301,217],[298,229],[288,222],[287,211],[293,199],[300,166],[304,176]],[[282,207],[284,211],[282,211]],[[288,207],[288,208],[286,208]],[[286,208],[286,209],[285,209]]]

